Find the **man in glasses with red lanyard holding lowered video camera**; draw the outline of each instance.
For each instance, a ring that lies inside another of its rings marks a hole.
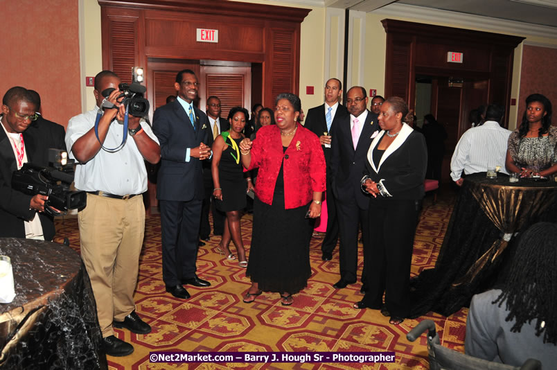
[[[48,148],[65,150],[64,128],[53,132],[38,130],[37,105],[24,87],[12,87],[2,99],[0,116],[0,236],[52,240],[55,234],[51,215],[44,213],[46,195],[26,195],[12,189],[12,175],[26,163],[48,166]],[[55,140],[56,139],[56,140]],[[62,148],[60,148],[62,146]]]

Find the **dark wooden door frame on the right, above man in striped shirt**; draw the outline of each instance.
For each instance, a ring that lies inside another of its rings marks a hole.
[[[508,126],[514,49],[524,37],[395,19],[381,21],[387,33],[385,95],[404,98],[414,108],[416,71],[430,76],[487,76],[488,101],[504,105]],[[448,51],[463,51],[462,64],[446,61]],[[488,103],[488,102],[486,102]]]

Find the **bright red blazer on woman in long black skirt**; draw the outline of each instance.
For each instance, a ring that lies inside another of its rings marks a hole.
[[[272,204],[283,158],[285,209],[304,206],[311,202],[314,191],[326,189],[325,157],[319,138],[297,125],[292,143],[284,153],[278,126],[268,125],[257,132],[248,170],[259,168],[255,193],[261,202]]]

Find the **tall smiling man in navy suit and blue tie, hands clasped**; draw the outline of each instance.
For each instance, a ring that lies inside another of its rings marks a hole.
[[[163,281],[174,297],[188,299],[183,284],[211,285],[195,274],[203,202],[201,161],[211,156],[207,116],[193,106],[199,82],[189,69],[174,84],[178,98],[154,111],[153,131],[161,145],[157,199],[161,206]]]

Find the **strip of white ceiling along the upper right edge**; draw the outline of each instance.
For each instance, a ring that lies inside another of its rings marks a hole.
[[[306,6],[329,6],[372,12],[402,4],[467,15],[519,21],[557,28],[557,0],[289,0]]]

